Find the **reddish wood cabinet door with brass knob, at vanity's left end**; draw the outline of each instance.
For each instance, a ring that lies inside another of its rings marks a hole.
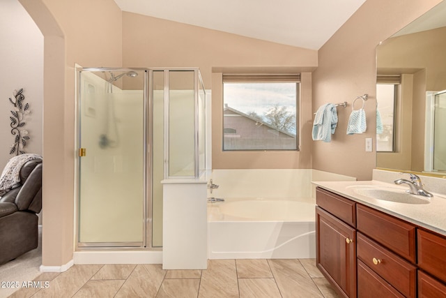
[[[316,264],[344,297],[356,297],[356,232],[316,207]]]

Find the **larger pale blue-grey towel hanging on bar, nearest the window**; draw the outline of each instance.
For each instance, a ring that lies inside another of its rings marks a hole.
[[[337,110],[332,103],[321,105],[313,121],[313,140],[330,142],[337,126]]]

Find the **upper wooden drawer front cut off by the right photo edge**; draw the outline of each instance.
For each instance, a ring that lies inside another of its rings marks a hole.
[[[418,266],[446,282],[446,239],[418,229]]]

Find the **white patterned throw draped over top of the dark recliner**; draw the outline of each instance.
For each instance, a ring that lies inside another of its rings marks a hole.
[[[38,154],[20,154],[10,158],[0,177],[0,197],[16,188],[20,182],[20,170],[31,159],[42,158]]]

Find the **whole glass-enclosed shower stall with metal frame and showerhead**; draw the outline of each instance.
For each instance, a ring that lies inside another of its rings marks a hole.
[[[162,247],[162,181],[205,170],[198,68],[77,68],[77,250]]]

